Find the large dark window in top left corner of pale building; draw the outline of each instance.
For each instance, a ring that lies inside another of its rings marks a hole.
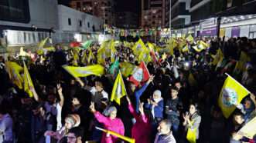
[[[1,0],[0,20],[29,23],[29,0]]]

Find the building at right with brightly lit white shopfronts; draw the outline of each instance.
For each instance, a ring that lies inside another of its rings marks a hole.
[[[191,0],[191,22],[176,28],[175,35],[256,38],[256,1],[254,0]],[[220,31],[217,29],[220,19]]]

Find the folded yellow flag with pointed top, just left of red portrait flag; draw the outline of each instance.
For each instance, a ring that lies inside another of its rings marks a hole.
[[[119,71],[119,74],[114,81],[114,87],[111,93],[111,101],[116,101],[118,105],[120,105],[120,98],[122,98],[125,95],[127,95],[125,83],[123,81],[123,78],[121,77],[121,72]]]

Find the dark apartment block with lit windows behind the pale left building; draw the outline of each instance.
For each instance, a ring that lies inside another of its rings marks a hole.
[[[115,25],[114,0],[71,0],[70,7],[104,19],[105,25]]]

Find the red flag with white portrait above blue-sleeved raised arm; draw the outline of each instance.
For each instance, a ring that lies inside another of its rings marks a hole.
[[[148,81],[149,76],[148,68],[144,62],[141,62],[141,64],[135,68],[135,71],[131,75],[131,78],[129,78],[129,81],[138,86],[141,82]]]

